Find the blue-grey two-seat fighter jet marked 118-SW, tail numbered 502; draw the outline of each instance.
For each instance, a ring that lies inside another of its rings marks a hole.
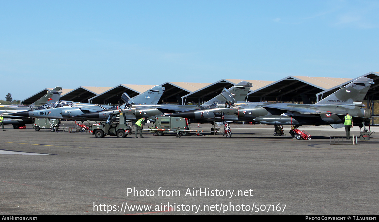
[[[164,91],[162,86],[154,86],[153,88],[147,90],[143,94],[136,96],[136,100],[141,104],[143,102],[157,103]],[[87,114],[91,112],[97,112],[100,110],[114,110],[118,109],[119,106],[108,106],[108,105],[97,105],[92,103],[77,103],[72,101],[64,101],[49,103],[40,106],[37,109],[30,111],[23,111],[15,113],[15,116],[23,117],[36,117],[36,118],[46,118],[46,119],[67,119],[67,120],[87,120],[83,117],[78,117],[81,114]]]

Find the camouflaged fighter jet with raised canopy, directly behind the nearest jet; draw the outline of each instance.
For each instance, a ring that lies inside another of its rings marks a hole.
[[[224,89],[222,92],[209,100],[208,102],[198,105],[133,105],[128,109],[120,109],[119,112],[125,113],[125,117],[127,120],[138,120],[142,117],[147,117],[150,121],[154,121],[155,116],[163,116],[164,113],[174,113],[177,111],[185,111],[185,110],[193,110],[193,109],[208,109],[214,107],[225,107],[225,106],[233,106],[236,103],[235,98],[238,98],[241,103],[244,103],[247,93],[249,92],[250,87],[252,87],[251,83],[246,81],[242,81],[237,83],[236,85],[229,88],[229,90]],[[232,93],[230,93],[231,91]],[[234,94],[234,96],[233,96]],[[220,105],[221,104],[221,105]],[[122,107],[121,107],[122,108]],[[78,117],[85,117],[88,120],[106,120],[110,113],[113,113],[114,110],[104,110],[99,112],[87,113],[80,115]]]

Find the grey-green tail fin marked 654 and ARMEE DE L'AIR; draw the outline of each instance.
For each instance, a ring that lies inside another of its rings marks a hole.
[[[338,89],[338,91],[330,94],[316,104],[362,104],[371,84],[374,84],[372,79],[359,77],[348,85],[341,86],[341,89]]]

